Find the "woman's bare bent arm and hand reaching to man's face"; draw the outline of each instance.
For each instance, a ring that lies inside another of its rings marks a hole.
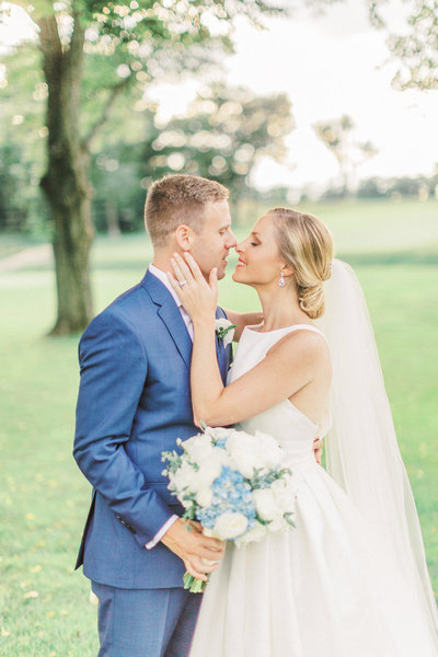
[[[224,388],[216,358],[216,270],[208,285],[189,254],[186,262],[177,256],[175,261],[176,279],[187,283],[180,287],[170,279],[194,325],[191,385],[195,424],[223,426],[247,419],[313,380],[325,343],[318,334],[300,331],[280,339],[262,362]]]

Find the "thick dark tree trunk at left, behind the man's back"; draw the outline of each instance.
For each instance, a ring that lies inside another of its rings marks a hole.
[[[74,16],[78,19],[78,16]],[[93,315],[90,247],[93,240],[89,153],[78,129],[83,28],[74,20],[62,48],[55,16],[38,21],[43,69],[48,85],[47,171],[41,186],[53,215],[58,314],[51,334],[82,331]]]

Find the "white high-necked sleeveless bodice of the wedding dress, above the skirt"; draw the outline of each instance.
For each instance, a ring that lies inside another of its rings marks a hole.
[[[314,331],[323,335],[309,324],[296,324],[266,333],[246,327],[240,338],[228,382],[232,383],[261,362],[270,347],[285,335],[300,330]],[[313,440],[325,435],[326,424],[325,419],[322,424],[313,423],[289,400],[284,400],[272,408],[241,422],[240,428],[249,434],[258,430],[274,436],[287,454],[287,464],[297,473],[301,469],[314,466]]]

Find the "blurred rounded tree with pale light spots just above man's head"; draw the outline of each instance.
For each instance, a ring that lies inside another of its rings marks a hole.
[[[257,96],[247,89],[215,84],[200,92],[186,116],[154,126],[145,145],[147,180],[184,170],[219,181],[237,203],[260,158],[284,159],[284,137],[293,120],[285,94]]]

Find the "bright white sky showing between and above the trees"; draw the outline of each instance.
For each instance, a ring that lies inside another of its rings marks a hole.
[[[403,30],[403,0],[385,9],[389,28]],[[304,184],[316,186],[335,180],[337,163],[320,142],[312,124],[348,114],[357,137],[372,141],[378,154],[362,164],[359,177],[433,174],[438,162],[438,92],[391,88],[394,64],[385,64],[387,33],[369,25],[364,0],[347,0],[324,15],[307,11],[291,18],[265,20],[258,31],[243,20],[235,30],[237,54],[226,60],[226,79],[261,94],[286,92],[292,102],[296,129],[287,138],[285,165],[264,161],[253,182],[258,187]],[[0,43],[13,42],[25,30],[18,15],[8,31],[0,26]],[[177,94],[161,85],[155,95],[163,114],[184,110],[196,83]]]

